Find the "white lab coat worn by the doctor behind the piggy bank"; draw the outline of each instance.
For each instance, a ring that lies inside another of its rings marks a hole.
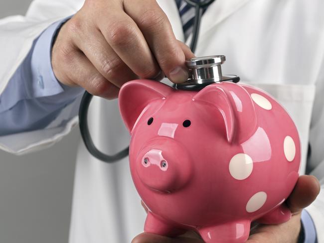
[[[159,0],[175,36],[183,40],[173,0]],[[0,93],[28,53],[32,41],[51,23],[74,14],[83,0],[34,0],[26,16],[0,20]],[[313,170],[324,189],[324,1],[217,0],[201,21],[197,56],[226,55],[224,74],[272,94],[298,127],[306,170],[308,142]],[[108,24],[108,23],[107,23]],[[190,42],[190,38],[188,43]],[[0,148],[25,153],[47,147],[77,124],[79,100],[48,127],[0,137]],[[68,122],[62,121],[68,120]],[[128,145],[129,134],[117,101],[95,98],[89,114],[92,136],[104,152]],[[280,122],[280,121],[278,121]],[[64,124],[64,125],[62,125]],[[275,124],[274,124],[275,125]],[[324,190],[308,207],[324,243]],[[126,243],[143,231],[146,214],[133,185],[128,158],[106,164],[81,143],[77,155],[70,243]]]

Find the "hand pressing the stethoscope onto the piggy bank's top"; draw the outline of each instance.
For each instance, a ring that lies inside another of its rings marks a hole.
[[[156,0],[85,0],[57,35],[52,67],[62,84],[112,99],[133,79],[185,81],[191,57]]]

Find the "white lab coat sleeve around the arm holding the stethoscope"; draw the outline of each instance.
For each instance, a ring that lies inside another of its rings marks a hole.
[[[54,22],[73,15],[80,7],[80,1],[74,0],[35,0],[25,16],[0,19],[0,94],[30,53],[38,36]],[[54,102],[54,99],[55,96],[50,96],[46,102]],[[46,127],[0,136],[0,149],[22,154],[54,144],[77,124],[79,102],[78,98],[68,104]]]

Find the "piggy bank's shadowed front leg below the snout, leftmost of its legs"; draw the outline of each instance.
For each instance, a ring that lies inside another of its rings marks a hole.
[[[186,232],[186,230],[179,229],[174,225],[170,225],[156,217],[150,211],[146,217],[144,231],[146,233],[153,233],[161,236],[178,236]]]

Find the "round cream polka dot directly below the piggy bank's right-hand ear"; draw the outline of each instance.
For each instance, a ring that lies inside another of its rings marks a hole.
[[[253,161],[249,155],[238,153],[232,157],[228,167],[231,176],[237,180],[244,180],[252,173]]]

